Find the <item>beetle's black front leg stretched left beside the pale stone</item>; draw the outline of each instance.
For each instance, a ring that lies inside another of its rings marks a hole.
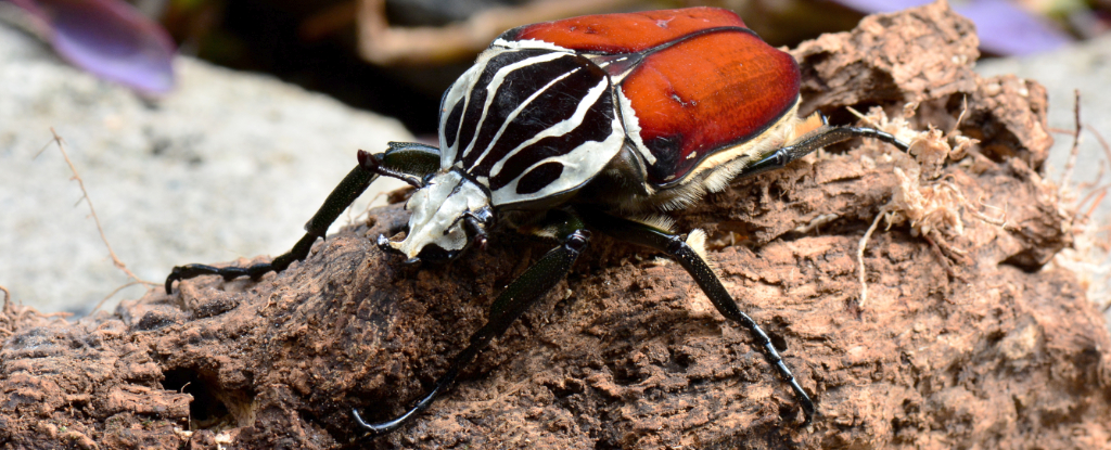
[[[239,277],[250,277],[252,280],[262,278],[269,271],[286,270],[293,261],[304,260],[318,238],[323,238],[328,227],[336,221],[348,207],[359,198],[367,187],[379,174],[400,178],[410,184],[419,183],[426,173],[436,171],[440,166],[440,153],[434,147],[419,143],[390,142],[390,150],[383,153],[370,154],[359,150],[359,166],[351,170],[340,181],[339,186],[328,194],[324,204],[320,207],[312,219],[304,224],[304,237],[297,241],[290,251],[250,267],[213,267],[207,264],[186,264],[174,267],[166,278],[166,293],[173,293],[173,282],[204,274],[218,274],[224,281]],[[416,184],[419,187],[419,184]]]

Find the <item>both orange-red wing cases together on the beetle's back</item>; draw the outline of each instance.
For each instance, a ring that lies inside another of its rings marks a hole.
[[[655,186],[680,181],[708,156],[759,136],[799,98],[794,59],[723,9],[585,16],[526,26],[504,38],[585,54],[639,53],[643,59],[619,87],[655,159],[648,164]]]

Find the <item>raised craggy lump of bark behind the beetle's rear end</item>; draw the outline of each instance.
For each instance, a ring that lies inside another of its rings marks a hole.
[[[974,28],[940,1],[869,16],[852,31],[803,42],[791,51],[802,68],[800,111],[843,118],[845,107],[920,103],[937,110],[920,113],[920,127],[949,130],[967,100],[960,130],[981,140],[981,151],[1040,169],[1053,146],[1045,89],[1013,76],[981,80],[972,70],[980,57]]]

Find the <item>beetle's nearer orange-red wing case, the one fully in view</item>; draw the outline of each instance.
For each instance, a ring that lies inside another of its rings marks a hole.
[[[620,92],[631,107],[627,116],[638,120],[639,143],[654,157],[648,181],[668,187],[788,116],[798,101],[799,70],[793,58],[749,32],[719,31],[645,57]]]

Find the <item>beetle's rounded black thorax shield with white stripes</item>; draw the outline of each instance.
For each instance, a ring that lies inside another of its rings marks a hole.
[[[444,94],[442,164],[488,187],[496,206],[577,188],[621,149],[611,89],[573,52],[491,48]]]

